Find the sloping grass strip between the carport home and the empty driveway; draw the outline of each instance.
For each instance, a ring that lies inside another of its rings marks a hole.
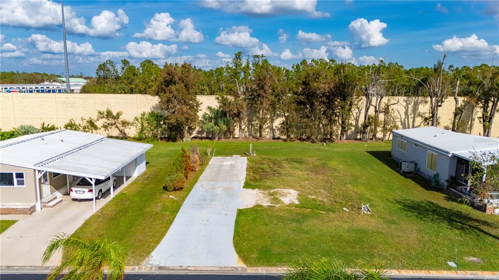
[[[193,143],[154,142],[146,154],[147,169],[73,233],[80,239],[107,239],[126,251],[127,265],[140,265],[170,228],[185,198],[201,176],[191,173],[187,187],[167,192],[163,183],[182,146]],[[172,195],[175,197],[170,198]]]

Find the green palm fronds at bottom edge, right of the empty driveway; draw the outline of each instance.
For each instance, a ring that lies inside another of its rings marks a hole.
[[[289,267],[282,280],[388,280],[381,266],[374,269],[364,266],[360,270],[349,270],[346,265],[328,258],[303,257],[298,264]]]

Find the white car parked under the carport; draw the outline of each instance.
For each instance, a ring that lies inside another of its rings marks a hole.
[[[116,187],[116,178],[114,176],[109,176],[104,180],[95,179],[95,195],[96,199],[102,197],[102,193],[108,189]],[[92,183],[90,183],[86,178],[78,178],[71,183],[70,196],[74,199],[93,199],[94,194],[92,193]]]

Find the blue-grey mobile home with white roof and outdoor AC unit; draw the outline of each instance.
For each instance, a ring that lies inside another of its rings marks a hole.
[[[474,154],[499,154],[499,139],[451,132],[436,127],[393,131],[392,158],[414,164],[414,171],[427,178],[438,174],[440,185],[454,177],[468,187]]]

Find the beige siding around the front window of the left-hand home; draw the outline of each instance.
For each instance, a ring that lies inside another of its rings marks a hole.
[[[31,205],[36,203],[34,170],[18,166],[0,164],[1,172],[24,172],[24,187],[0,187],[0,205]]]

